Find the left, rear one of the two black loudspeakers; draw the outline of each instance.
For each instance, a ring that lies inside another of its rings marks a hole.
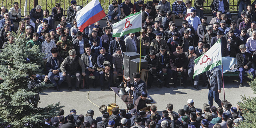
[[[125,52],[124,53],[124,75],[130,76],[130,61],[132,59],[139,58],[140,54],[136,52]]]

